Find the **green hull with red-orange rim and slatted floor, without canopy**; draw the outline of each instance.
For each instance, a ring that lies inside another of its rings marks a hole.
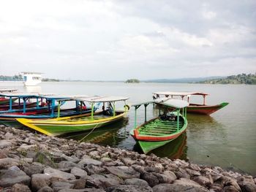
[[[187,119],[182,118],[183,123],[180,125],[179,129],[175,130],[175,123],[165,122],[159,118],[154,118],[147,121],[138,128],[132,129],[130,134],[138,142],[143,153],[148,153],[158,147],[161,147],[168,142],[173,141],[179,137],[187,129]],[[151,126],[152,125],[152,126]],[[143,128],[145,131],[142,131]],[[148,129],[146,131],[146,129]]]

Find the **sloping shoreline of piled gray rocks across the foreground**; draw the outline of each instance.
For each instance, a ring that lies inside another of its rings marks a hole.
[[[0,191],[256,191],[256,178],[0,126]]]

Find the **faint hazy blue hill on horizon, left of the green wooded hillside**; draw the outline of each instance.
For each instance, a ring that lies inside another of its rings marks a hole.
[[[159,82],[159,83],[192,83],[204,82],[206,80],[221,79],[223,77],[190,77],[180,79],[159,79],[159,80],[143,80],[143,82]]]

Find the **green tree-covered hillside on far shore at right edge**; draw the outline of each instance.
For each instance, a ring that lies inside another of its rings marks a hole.
[[[218,78],[213,80],[206,80],[200,83],[209,84],[249,84],[256,85],[256,73],[255,74],[238,74],[231,75],[224,78]]]

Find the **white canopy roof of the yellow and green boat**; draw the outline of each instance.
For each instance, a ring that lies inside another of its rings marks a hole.
[[[97,102],[111,102],[111,101],[126,101],[129,98],[124,96],[89,96],[89,97],[75,97],[74,99],[77,99],[80,101],[88,101],[91,103],[97,103]]]

